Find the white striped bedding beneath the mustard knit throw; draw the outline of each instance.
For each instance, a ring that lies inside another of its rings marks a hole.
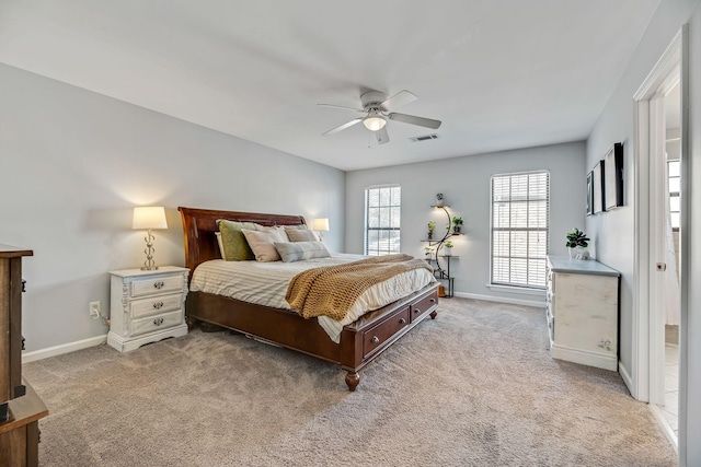
[[[214,259],[197,266],[189,283],[189,290],[229,296],[274,308],[290,310],[289,304],[285,301],[285,293],[289,280],[295,275],[311,268],[357,261],[365,257],[360,255],[334,254],[331,258],[307,259],[296,262]],[[338,322],[320,316],[319,324],[331,340],[337,343],[341,340],[343,327],[356,320],[364,313],[381,308],[435,281],[436,279],[427,269],[401,273],[363,293],[343,320]]]

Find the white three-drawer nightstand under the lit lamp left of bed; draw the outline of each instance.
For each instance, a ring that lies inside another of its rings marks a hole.
[[[107,343],[120,352],[128,352],[145,343],[186,335],[188,271],[176,266],[161,266],[154,271],[110,271]]]

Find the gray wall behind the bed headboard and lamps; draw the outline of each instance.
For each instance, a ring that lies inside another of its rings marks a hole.
[[[343,172],[4,65],[0,180],[0,243],[34,249],[28,351],[107,332],[88,303],[106,312],[107,271],[143,262],[134,206],[166,208],[159,265],[184,266],[179,206],[327,217],[344,243]]]

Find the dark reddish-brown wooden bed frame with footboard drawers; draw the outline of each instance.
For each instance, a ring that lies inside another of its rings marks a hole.
[[[200,262],[219,259],[215,236],[217,220],[255,222],[261,225],[306,224],[301,215],[260,214],[180,207],[185,233],[185,259],[192,273]],[[296,312],[242,302],[204,292],[189,292],[185,314],[196,322],[233,329],[257,339],[307,353],[341,365],[349,390],[360,383],[358,371],[377,358],[426,316],[436,317],[438,284],[429,284],[383,308],[367,313],[345,326],[340,343],[331,340],[317,319]]]

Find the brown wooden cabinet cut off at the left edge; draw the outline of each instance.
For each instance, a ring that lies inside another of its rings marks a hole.
[[[46,406],[22,378],[22,258],[0,245],[0,467],[38,465],[38,420]]]

